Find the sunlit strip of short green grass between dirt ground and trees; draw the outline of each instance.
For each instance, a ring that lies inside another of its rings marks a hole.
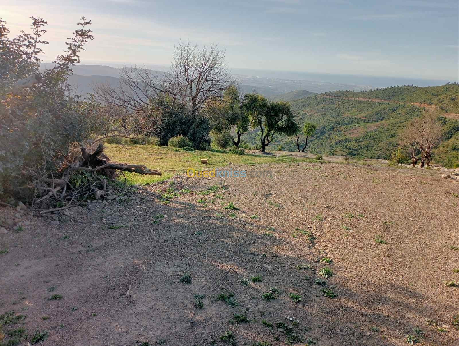
[[[176,151],[176,148],[155,145],[118,145],[105,144],[104,152],[113,161],[144,164],[162,172],[162,176],[142,176],[125,173],[129,184],[150,184],[169,179],[175,174],[185,174],[188,168],[211,170],[222,167],[228,162],[233,164],[268,164],[313,161],[290,156],[264,156],[256,154],[236,155],[224,151]],[[201,164],[201,159],[208,159],[208,164]]]

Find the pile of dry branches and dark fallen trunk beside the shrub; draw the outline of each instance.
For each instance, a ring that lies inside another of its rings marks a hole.
[[[125,186],[115,178],[125,171],[161,175],[144,165],[110,162],[103,150],[102,143],[91,154],[81,147],[81,156],[62,171],[60,178],[48,175],[35,179],[33,205],[41,209],[41,214],[80,205],[88,199],[116,199]]]

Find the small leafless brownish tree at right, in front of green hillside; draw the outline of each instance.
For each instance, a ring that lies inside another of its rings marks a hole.
[[[403,133],[406,141],[416,143],[421,153],[421,168],[430,166],[432,149],[438,144],[442,136],[442,125],[437,116],[428,113],[409,122]]]

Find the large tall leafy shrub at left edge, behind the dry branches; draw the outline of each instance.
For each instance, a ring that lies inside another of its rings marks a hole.
[[[34,34],[22,32],[14,39],[0,20],[0,194],[11,192],[19,199],[28,199],[32,193],[17,189],[31,180],[30,167],[41,176],[56,172],[74,144],[86,141],[100,123],[94,100],[69,98],[66,87],[73,65],[80,62],[78,52],[93,39],[87,29],[90,21],[82,18],[67,50],[54,61],[55,67],[43,71],[39,55],[47,43],[41,37],[47,23],[31,18]],[[22,79],[29,80],[30,87],[15,85]],[[28,174],[21,175],[24,171]]]

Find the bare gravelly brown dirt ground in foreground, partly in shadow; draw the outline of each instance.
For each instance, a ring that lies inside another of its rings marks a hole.
[[[230,345],[227,331],[237,345],[285,345],[278,322],[297,345],[406,345],[405,335],[459,345],[459,288],[445,284],[459,283],[459,180],[339,162],[232,168],[272,178],[181,176],[59,225],[34,218],[0,234],[0,314],[27,315],[28,340],[48,330],[44,344],[59,346]],[[241,284],[253,276],[261,281]],[[280,294],[263,300],[272,288]]]

